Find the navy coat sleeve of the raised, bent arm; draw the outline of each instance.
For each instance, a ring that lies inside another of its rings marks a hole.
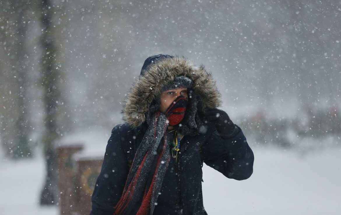
[[[227,178],[244,180],[253,172],[253,152],[241,128],[236,136],[224,139],[217,130],[201,147],[201,159],[208,166],[223,173]]]

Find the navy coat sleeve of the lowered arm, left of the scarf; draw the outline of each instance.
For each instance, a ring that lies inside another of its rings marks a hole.
[[[101,173],[92,194],[90,215],[113,215],[128,175],[127,158],[122,148],[120,125],[113,128],[104,154]]]

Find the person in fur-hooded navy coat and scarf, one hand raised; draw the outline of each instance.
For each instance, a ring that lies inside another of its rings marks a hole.
[[[202,166],[244,180],[253,152],[203,66],[169,55],[146,59],[112,130],[91,215],[207,214]],[[213,197],[214,198],[214,197]]]

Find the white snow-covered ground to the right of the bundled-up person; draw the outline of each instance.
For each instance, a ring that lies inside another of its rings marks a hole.
[[[253,151],[254,172],[244,181],[204,167],[204,206],[209,214],[340,214],[340,148],[305,155],[269,148]]]

